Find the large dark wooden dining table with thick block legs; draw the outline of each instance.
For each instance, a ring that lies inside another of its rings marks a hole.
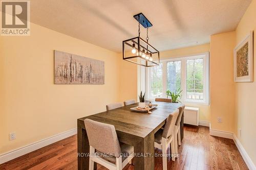
[[[180,103],[153,102],[157,107],[152,113],[132,111],[130,108],[138,103],[117,109],[93,114],[77,119],[78,169],[89,169],[90,145],[83,120],[86,118],[115,126],[118,140],[133,145],[134,167],[137,169],[154,169],[154,134],[165,124],[169,114],[181,106]],[[181,121],[183,138],[183,116]],[[104,141],[102,141],[104,142]],[[96,163],[94,163],[96,169]]]

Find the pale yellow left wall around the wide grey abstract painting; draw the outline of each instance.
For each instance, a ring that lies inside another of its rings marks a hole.
[[[105,62],[104,85],[54,85],[59,50]],[[118,55],[31,23],[31,36],[0,36],[0,154],[76,128],[119,101]],[[16,139],[9,141],[9,133]]]

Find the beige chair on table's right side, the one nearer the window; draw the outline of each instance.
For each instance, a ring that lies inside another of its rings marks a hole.
[[[182,105],[179,107],[179,115],[174,126],[174,146],[175,146],[176,154],[178,153],[178,144],[181,145],[180,122],[181,122],[181,117],[184,109],[185,109],[185,105]]]

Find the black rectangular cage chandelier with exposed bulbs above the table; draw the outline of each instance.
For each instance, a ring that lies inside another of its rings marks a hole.
[[[138,21],[139,36],[123,41],[123,60],[145,67],[159,65],[160,53],[148,43],[148,28],[153,26],[152,23],[142,13],[133,17]],[[140,25],[146,29],[146,40],[140,37]]]

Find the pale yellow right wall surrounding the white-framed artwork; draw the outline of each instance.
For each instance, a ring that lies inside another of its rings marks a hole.
[[[236,100],[235,100],[235,128],[234,133],[242,143],[247,154],[256,165],[256,0],[253,0],[241,19],[237,30],[236,44],[241,42],[246,35],[254,30],[254,69],[252,83],[236,83]],[[241,129],[241,135],[240,135]]]

